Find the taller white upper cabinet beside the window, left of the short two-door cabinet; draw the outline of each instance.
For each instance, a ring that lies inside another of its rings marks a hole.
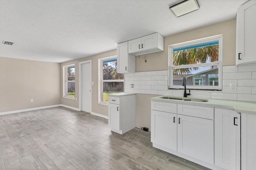
[[[128,42],[117,44],[117,72],[135,73],[135,55],[128,54]]]

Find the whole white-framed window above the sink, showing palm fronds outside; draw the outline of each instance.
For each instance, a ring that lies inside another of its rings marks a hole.
[[[221,90],[222,36],[170,45],[169,89]]]

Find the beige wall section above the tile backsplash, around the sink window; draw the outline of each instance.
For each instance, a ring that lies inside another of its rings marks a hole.
[[[164,38],[164,51],[136,56],[136,72],[168,69],[168,46],[200,38],[223,34],[222,65],[235,65],[236,19],[219,22]],[[144,61],[144,56],[147,62]]]

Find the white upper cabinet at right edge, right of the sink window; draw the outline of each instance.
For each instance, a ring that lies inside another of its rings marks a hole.
[[[256,63],[256,0],[240,6],[236,16],[236,65]]]

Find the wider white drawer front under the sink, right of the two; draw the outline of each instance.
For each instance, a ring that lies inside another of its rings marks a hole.
[[[180,115],[188,115],[200,117],[204,119],[214,119],[214,109],[212,107],[180,105],[178,104],[177,113]]]

